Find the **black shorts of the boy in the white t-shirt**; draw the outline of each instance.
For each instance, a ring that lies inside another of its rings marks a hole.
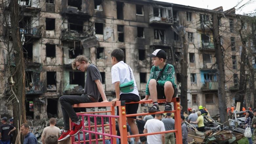
[[[120,95],[120,101],[125,100],[126,103],[128,102],[137,102],[139,101],[139,96],[133,93],[122,93]],[[126,114],[135,114],[138,111],[139,103],[136,104],[125,104],[125,111]],[[119,115],[118,107],[117,107],[117,115]],[[132,116],[130,118],[136,119],[136,116]]]

